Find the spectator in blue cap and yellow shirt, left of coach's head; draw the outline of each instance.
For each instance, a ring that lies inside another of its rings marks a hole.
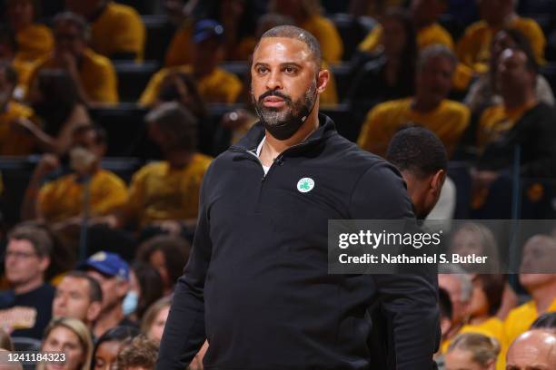
[[[223,26],[211,19],[195,24],[193,63],[163,68],[151,78],[139,103],[151,106],[157,101],[164,79],[171,73],[190,73],[204,102],[232,103],[242,92],[242,83],[233,73],[218,66],[223,59]]]

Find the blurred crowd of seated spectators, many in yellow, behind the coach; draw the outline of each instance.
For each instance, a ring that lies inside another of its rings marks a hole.
[[[402,173],[417,216],[556,215],[556,1],[0,0],[0,11],[5,350],[64,350],[68,369],[154,368],[204,172],[257,122],[251,54],[279,24],[320,42],[332,73],[321,110],[349,140],[381,156],[408,127],[442,141],[442,180],[425,166],[435,152],[406,142],[387,157],[402,172],[404,156],[422,162],[419,179]],[[442,188],[434,209],[418,201],[427,187]],[[551,260],[554,238],[513,252],[521,266]],[[508,250],[476,222],[451,248]],[[441,367],[525,369],[534,349],[539,368],[556,368],[556,269],[528,268],[441,271]]]

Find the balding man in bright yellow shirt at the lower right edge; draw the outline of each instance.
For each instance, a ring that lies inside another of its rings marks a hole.
[[[556,311],[556,240],[536,235],[528,239],[521,254],[520,283],[531,300],[510,311],[504,321],[504,347],[522,333],[541,314]]]

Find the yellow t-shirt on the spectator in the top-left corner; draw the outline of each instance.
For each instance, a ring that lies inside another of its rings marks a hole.
[[[30,24],[19,31],[15,58],[23,62],[35,62],[44,58],[54,49],[54,36],[50,28],[43,24]]]

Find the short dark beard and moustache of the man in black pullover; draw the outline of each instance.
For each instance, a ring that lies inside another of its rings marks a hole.
[[[312,83],[303,97],[293,102],[292,98],[284,93],[271,90],[259,96],[258,101],[253,102],[257,107],[257,114],[267,127],[280,127],[296,120],[302,119],[304,112],[309,112],[316,99],[316,83]],[[263,104],[263,99],[268,96],[277,96],[283,99],[286,106],[283,109],[268,108]],[[254,101],[254,96],[253,96]]]

